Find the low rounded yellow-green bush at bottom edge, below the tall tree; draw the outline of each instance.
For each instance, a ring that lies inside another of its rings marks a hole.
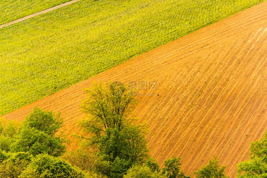
[[[134,166],[127,171],[123,178],[167,178],[157,171],[152,171],[146,166]]]

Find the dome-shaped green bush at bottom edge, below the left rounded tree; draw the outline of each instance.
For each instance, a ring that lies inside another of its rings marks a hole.
[[[77,167],[61,158],[39,154],[29,163],[19,178],[85,178]]]

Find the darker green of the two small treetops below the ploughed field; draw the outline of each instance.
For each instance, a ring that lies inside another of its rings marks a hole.
[[[169,178],[189,178],[190,176],[185,176],[183,171],[180,171],[182,163],[180,162],[180,157],[173,156],[164,161],[162,168],[163,173],[166,173]]]

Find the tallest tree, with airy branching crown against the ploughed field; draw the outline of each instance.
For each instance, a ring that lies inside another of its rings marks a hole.
[[[110,91],[100,82],[85,92],[88,97],[82,107],[89,118],[81,122],[81,127],[90,137],[81,138],[105,161],[112,163],[119,157],[132,165],[143,162],[147,158],[147,142],[141,126],[133,126],[133,119],[129,118],[136,104],[132,91],[121,86]]]

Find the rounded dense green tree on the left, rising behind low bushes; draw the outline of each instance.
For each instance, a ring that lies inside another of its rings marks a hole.
[[[57,116],[51,111],[34,108],[21,124],[19,132],[11,145],[13,152],[29,152],[30,154],[48,154],[60,156],[65,152],[65,142],[60,136],[55,136],[62,126],[60,113]]]

